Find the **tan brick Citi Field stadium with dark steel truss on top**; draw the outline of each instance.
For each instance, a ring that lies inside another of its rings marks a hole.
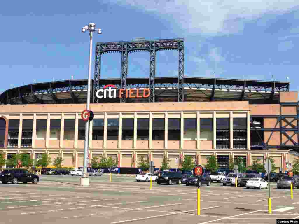
[[[177,50],[178,76],[156,77],[155,54]],[[148,78],[128,78],[128,55],[148,51]],[[120,79],[101,79],[104,53],[121,53]],[[184,76],[184,39],[96,43],[90,110],[89,164],[112,157],[118,167],[137,167],[144,156],[180,168],[184,156],[220,168],[242,157],[273,157],[276,172],[291,168],[298,150],[298,92],[289,82]],[[83,166],[87,80],[36,83],[0,95],[0,151],[5,158],[48,153],[64,166]]]

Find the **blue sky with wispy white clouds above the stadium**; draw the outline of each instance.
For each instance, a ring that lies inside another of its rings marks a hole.
[[[0,93],[53,80],[88,78],[95,42],[184,38],[184,75],[286,81],[298,91],[298,0],[3,1]],[[94,67],[94,52],[92,61]],[[156,53],[156,76],[178,74],[178,51]],[[128,77],[149,77],[149,53],[128,56]],[[120,78],[120,53],[102,55],[101,78]]]

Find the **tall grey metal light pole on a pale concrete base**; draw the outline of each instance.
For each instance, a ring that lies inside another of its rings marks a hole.
[[[86,99],[86,110],[89,110],[90,102],[90,85],[91,85],[91,56],[92,56],[92,33],[96,31],[95,24],[89,23],[88,26],[82,27],[82,33],[85,33],[86,30],[89,31],[89,63],[88,63],[88,84],[87,84],[87,99]],[[101,29],[97,29],[98,34],[102,34]],[[84,162],[83,162],[83,174],[80,178],[80,185],[88,186],[89,185],[89,175],[87,175],[87,150],[89,142],[89,120],[85,124],[85,141],[84,141]]]

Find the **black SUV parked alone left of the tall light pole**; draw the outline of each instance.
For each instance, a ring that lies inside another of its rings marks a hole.
[[[23,182],[24,184],[32,182],[34,184],[37,184],[37,182],[39,182],[39,176],[30,173],[25,169],[12,168],[5,169],[0,174],[0,180],[3,184],[7,184],[7,182],[11,182],[13,184],[17,184],[18,182]]]

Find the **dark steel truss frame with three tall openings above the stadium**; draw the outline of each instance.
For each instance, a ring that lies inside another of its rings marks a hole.
[[[136,51],[149,52],[149,89],[151,90],[149,102],[155,102],[155,69],[156,52],[159,50],[178,50],[178,102],[184,102],[184,39],[158,39],[158,40],[137,40],[137,41],[119,41],[119,42],[98,42],[95,51],[95,69],[94,69],[94,90],[93,102],[100,102],[96,97],[96,91],[100,89],[101,79],[101,55],[104,53],[121,53],[121,74],[120,87],[128,88],[126,80],[128,78],[128,54]],[[126,102],[123,96],[120,102]]]

